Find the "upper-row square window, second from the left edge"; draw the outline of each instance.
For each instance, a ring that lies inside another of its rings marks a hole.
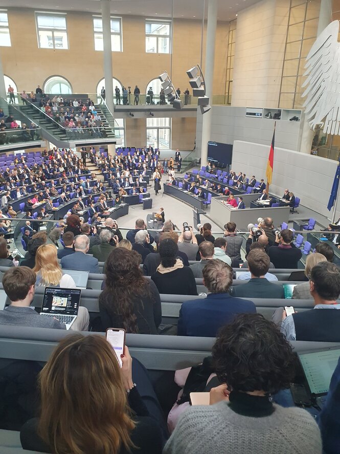
[[[69,49],[66,17],[36,13],[38,44],[41,49]]]

